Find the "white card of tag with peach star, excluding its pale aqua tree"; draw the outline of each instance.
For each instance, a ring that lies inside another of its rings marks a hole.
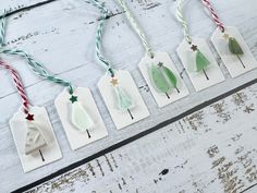
[[[114,86],[111,84],[112,79],[106,74],[98,82],[98,88],[106,102],[106,106],[111,114],[111,118],[118,130],[135,123],[149,116],[149,111],[140,96],[140,93],[131,76],[130,72],[119,70],[115,72],[117,86],[122,89],[122,94],[132,99],[131,108],[127,110],[120,110],[119,96]]]

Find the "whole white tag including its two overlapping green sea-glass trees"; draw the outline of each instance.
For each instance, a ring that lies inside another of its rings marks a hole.
[[[139,63],[139,69],[157,105],[164,107],[187,96],[189,92],[169,55],[166,52],[154,52],[154,56],[151,58],[146,55]]]

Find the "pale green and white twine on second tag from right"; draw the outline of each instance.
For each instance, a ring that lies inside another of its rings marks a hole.
[[[176,19],[178,21],[182,24],[183,26],[183,34],[184,34],[184,38],[186,39],[186,41],[191,45],[192,44],[192,37],[189,35],[189,29],[188,29],[188,23],[183,14],[183,7],[185,4],[184,0],[179,0],[178,1],[178,7],[176,7]]]

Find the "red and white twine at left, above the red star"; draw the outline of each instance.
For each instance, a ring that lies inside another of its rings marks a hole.
[[[22,84],[22,80],[19,76],[19,73],[16,70],[14,70],[11,65],[7,64],[5,62],[0,60],[0,67],[3,69],[7,69],[8,71],[11,72],[13,81],[15,83],[15,86],[17,88],[17,93],[20,94],[22,101],[23,101],[23,110],[25,114],[28,114],[28,107],[29,107],[29,101],[26,96],[25,89]]]

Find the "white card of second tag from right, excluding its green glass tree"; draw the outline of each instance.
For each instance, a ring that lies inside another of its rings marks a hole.
[[[209,65],[205,71],[196,72],[193,70],[196,67],[196,51],[191,49],[188,43],[184,39],[182,44],[176,49],[176,52],[196,89],[199,92],[201,89],[208,88],[224,81],[222,71],[220,70],[211,50],[209,49],[205,39],[193,38],[193,45],[197,45],[197,49],[206,57],[209,61]]]

